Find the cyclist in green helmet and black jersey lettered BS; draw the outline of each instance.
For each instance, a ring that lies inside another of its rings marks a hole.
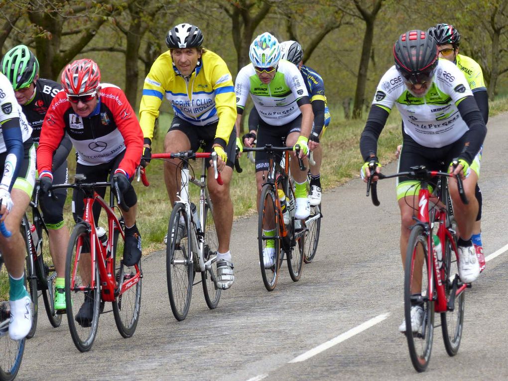
[[[49,79],[39,78],[39,62],[28,47],[18,45],[9,50],[0,63],[0,69],[14,88],[14,94],[32,128],[32,139],[39,144],[44,116],[61,85]],[[63,136],[53,154],[52,173],[57,183],[67,181],[67,156],[72,143]],[[66,189],[54,191],[55,199],[41,196],[40,206],[49,235],[49,247],[56,271],[55,310],[65,309],[65,260],[69,244],[69,230],[63,225],[63,205],[67,198]]]

